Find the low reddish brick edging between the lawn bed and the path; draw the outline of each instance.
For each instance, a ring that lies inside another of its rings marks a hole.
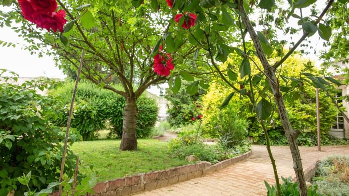
[[[200,162],[172,169],[105,181],[103,183],[98,183],[93,190],[96,196],[125,196],[144,191],[151,191],[206,175],[228,165],[247,159],[251,155],[252,151],[250,150],[247,153],[221,161],[214,165],[209,162]]]

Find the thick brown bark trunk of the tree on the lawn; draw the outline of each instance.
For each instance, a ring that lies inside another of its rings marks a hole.
[[[137,150],[137,105],[136,98],[126,98],[124,108],[123,133],[120,150]]]

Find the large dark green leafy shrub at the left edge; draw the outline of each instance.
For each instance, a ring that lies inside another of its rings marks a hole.
[[[51,100],[37,95],[35,88],[38,86],[30,82],[21,86],[0,84],[0,195],[12,190],[23,195],[26,187],[20,186],[17,177],[29,171],[33,178],[28,186],[32,190],[59,178],[65,134],[47,121],[42,108],[50,109],[47,103]],[[75,168],[74,159],[68,148],[64,171],[69,177]]]

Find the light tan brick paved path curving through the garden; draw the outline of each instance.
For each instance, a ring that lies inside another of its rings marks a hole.
[[[349,146],[300,147],[303,169],[330,155],[349,155]],[[144,192],[138,196],[263,196],[263,180],[274,184],[272,166],[265,146],[253,146],[253,155],[242,162],[189,181]],[[288,146],[272,147],[279,177],[295,176]]]

